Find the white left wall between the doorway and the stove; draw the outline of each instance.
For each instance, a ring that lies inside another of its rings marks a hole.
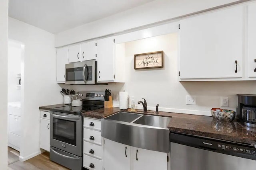
[[[21,107],[22,141],[20,158],[40,153],[39,106],[60,104],[60,86],[56,84],[54,35],[24,22],[9,18],[9,38],[24,43]]]

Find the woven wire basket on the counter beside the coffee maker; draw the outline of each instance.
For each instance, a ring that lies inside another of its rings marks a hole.
[[[226,110],[226,109],[211,109],[211,114],[213,119],[216,121],[224,121],[224,122],[231,122],[236,117],[236,112],[232,110]]]

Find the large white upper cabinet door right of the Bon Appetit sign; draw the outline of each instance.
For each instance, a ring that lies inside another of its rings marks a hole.
[[[242,77],[243,11],[232,7],[180,21],[180,79]]]

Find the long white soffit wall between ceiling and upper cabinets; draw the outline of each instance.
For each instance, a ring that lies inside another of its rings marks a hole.
[[[247,0],[241,0],[240,2],[242,1]],[[85,41],[86,39],[142,27],[232,2],[238,2],[238,0],[155,0],[113,16],[58,33],[55,46],[60,47],[78,41]]]

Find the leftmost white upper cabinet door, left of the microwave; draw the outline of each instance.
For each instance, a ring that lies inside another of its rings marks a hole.
[[[65,64],[68,64],[68,47],[57,49],[57,83],[65,83]]]

